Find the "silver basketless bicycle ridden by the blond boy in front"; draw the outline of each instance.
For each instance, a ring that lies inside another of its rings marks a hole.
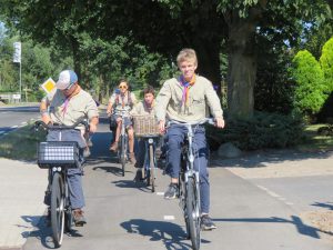
[[[201,236],[200,236],[200,180],[199,170],[194,169],[194,160],[198,152],[193,148],[193,127],[209,122],[214,123],[213,119],[205,118],[195,123],[184,123],[178,121],[169,121],[170,126],[184,126],[188,129],[186,137],[181,148],[181,171],[179,176],[179,199],[180,207],[183,210],[188,238],[191,239],[194,250],[200,249]]]

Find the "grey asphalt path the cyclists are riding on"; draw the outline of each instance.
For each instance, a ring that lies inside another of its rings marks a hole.
[[[178,200],[167,201],[162,197],[169,178],[159,171],[157,192],[151,193],[145,186],[132,181],[133,167],[129,166],[122,177],[114,156],[108,151],[110,132],[103,119],[92,141],[92,156],[83,178],[88,224],[65,236],[61,249],[191,249]],[[210,168],[210,177],[211,216],[218,229],[202,232],[201,249],[332,250],[319,229],[302,221],[296,207],[260,187],[274,182],[248,181],[216,166]],[[287,189],[293,183],[285,181],[285,187],[280,188]],[[297,193],[289,199],[297,203],[295,197]],[[53,248],[50,236],[42,219],[23,249]]]

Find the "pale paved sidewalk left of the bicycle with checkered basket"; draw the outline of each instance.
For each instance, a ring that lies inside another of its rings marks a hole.
[[[0,158],[0,249],[21,249],[44,213],[47,170]]]

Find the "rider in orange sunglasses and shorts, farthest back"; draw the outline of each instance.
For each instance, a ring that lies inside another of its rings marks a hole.
[[[130,150],[130,161],[131,163],[135,163],[135,156],[134,156],[134,132],[132,128],[132,122],[130,117],[122,118],[117,114],[117,112],[120,111],[127,111],[130,114],[130,111],[132,110],[133,106],[137,103],[135,94],[130,92],[130,84],[127,80],[122,79],[119,82],[118,86],[120,93],[113,93],[109,100],[107,113],[108,116],[111,116],[111,119],[117,121],[117,130],[114,141],[110,147],[111,151],[118,150],[118,141],[121,132],[121,124],[124,122],[124,126],[128,128],[128,134],[129,134],[129,150]]]

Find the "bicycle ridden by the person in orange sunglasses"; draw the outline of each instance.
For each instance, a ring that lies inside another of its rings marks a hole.
[[[127,111],[127,110],[117,111],[114,114],[120,116],[122,119],[121,131],[120,131],[119,141],[118,141],[117,156],[118,156],[119,162],[121,163],[122,176],[124,177],[125,164],[128,161],[128,146],[129,146],[129,136],[127,133],[124,118],[130,118],[130,114],[129,114],[129,111]]]

